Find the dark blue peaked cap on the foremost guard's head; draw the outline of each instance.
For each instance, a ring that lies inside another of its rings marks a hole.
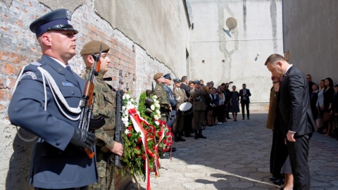
[[[30,31],[34,32],[37,37],[44,32],[51,30],[70,30],[77,34],[78,31],[75,30],[68,22],[71,18],[72,13],[69,10],[65,8],[57,9],[55,11],[51,11],[50,13],[46,13],[46,15],[43,15],[33,21],[33,23],[30,24]]]

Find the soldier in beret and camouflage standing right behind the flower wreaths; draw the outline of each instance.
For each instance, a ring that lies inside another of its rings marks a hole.
[[[169,113],[172,111],[167,91],[163,90],[163,85],[165,83],[163,74],[161,72],[156,73],[154,75],[154,80],[156,82],[156,86],[154,88],[154,91],[151,92],[151,94],[156,95],[158,101],[160,102],[160,111],[161,111],[161,120],[168,122]]]

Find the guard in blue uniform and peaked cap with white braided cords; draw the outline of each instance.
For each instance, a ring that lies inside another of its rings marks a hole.
[[[69,23],[71,15],[58,9],[30,24],[42,58],[20,72],[8,107],[13,125],[39,137],[30,163],[35,190],[84,190],[97,181],[94,158],[84,152],[84,148],[94,151],[95,135],[77,128],[85,81],[68,66],[76,54],[77,30]]]

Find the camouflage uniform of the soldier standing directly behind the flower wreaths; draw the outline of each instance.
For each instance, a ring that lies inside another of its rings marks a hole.
[[[163,89],[164,84],[156,82],[154,91],[151,93],[157,96],[157,100],[160,102],[161,120],[167,122],[169,116],[169,109],[171,107],[168,99],[168,92]]]

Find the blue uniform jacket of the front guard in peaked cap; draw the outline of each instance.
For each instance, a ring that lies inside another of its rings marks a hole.
[[[44,110],[44,87],[37,68],[49,72],[72,108],[79,106],[85,81],[49,56],[42,56],[39,63],[27,65],[8,107],[8,118],[13,125],[39,137],[32,151],[30,184],[44,189],[67,189],[97,182],[95,158],[88,158],[83,149],[70,144],[79,120],[70,120],[61,113],[48,84]],[[71,118],[80,115],[70,113],[63,103],[61,105]]]

